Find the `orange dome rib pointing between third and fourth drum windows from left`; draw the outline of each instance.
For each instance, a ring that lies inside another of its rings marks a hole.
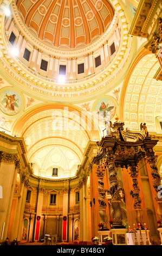
[[[55,33],[55,41],[54,45],[56,47],[59,47],[59,41],[60,41],[60,33],[61,33],[61,25],[62,25],[62,17],[63,17],[63,11],[64,11],[64,4],[66,0],[62,0],[62,4],[60,7],[60,13],[58,15],[58,20],[57,20],[57,26],[56,26],[56,33]]]

